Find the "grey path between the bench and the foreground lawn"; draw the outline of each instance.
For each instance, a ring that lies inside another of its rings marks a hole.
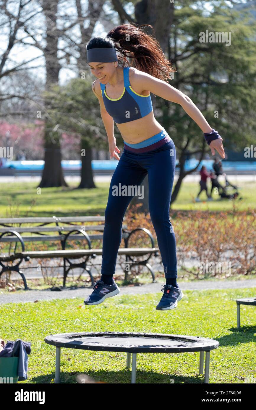
[[[144,294],[161,292],[162,284],[165,280],[159,280],[158,283],[150,283],[142,286],[121,286],[120,296],[125,294]],[[194,282],[178,282],[181,289],[184,290],[201,290],[201,289],[239,289],[246,287],[256,287],[256,279],[246,280],[219,280],[219,281],[194,281]],[[17,291],[10,294],[0,293],[0,304],[18,303],[18,302],[34,302],[36,300],[51,300],[51,299],[73,299],[81,298],[81,302],[92,293],[92,287],[82,289],[65,289],[61,292],[51,290],[28,290]],[[255,292],[256,293],[256,292]]]

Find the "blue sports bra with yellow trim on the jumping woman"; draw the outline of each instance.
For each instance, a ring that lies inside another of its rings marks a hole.
[[[105,84],[101,84],[100,82],[101,96],[106,111],[111,117],[113,117],[115,123],[118,124],[145,117],[145,115],[148,115],[153,109],[150,93],[148,96],[142,96],[131,88],[129,82],[129,68],[130,67],[123,68],[125,87],[119,98],[108,97],[105,90]]]

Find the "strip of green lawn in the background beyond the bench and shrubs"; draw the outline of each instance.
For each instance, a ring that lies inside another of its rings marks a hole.
[[[12,209],[12,216],[18,207],[19,216],[83,216],[104,215],[108,200],[109,183],[97,182],[95,189],[75,189],[77,183],[70,183],[68,188],[43,188],[41,193],[35,182],[13,182],[0,184],[0,217],[8,216]],[[240,182],[239,190],[242,200],[236,200],[239,210],[255,207],[256,183]],[[198,183],[183,182],[178,198],[172,205],[172,209],[179,210],[232,210],[233,201],[215,200],[206,201],[206,194],[201,194],[201,200],[205,202],[195,203],[194,198],[198,193]],[[213,194],[213,198],[217,196]],[[35,202],[35,204],[33,204]],[[31,207],[31,205],[33,206]]]

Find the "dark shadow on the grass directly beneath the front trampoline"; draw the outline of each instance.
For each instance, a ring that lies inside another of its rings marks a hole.
[[[119,383],[131,383],[131,369],[124,369],[124,370],[119,370],[119,371],[105,371],[105,370],[99,370],[99,371],[86,371],[86,373],[82,372],[65,372],[61,371],[60,372],[60,383],[66,384],[66,383],[76,383],[78,384],[76,380],[76,376],[83,374],[86,374],[90,377],[93,378],[95,382],[104,382],[104,383],[113,383],[113,384],[119,384]],[[51,374],[46,374],[45,376],[38,376],[38,377],[33,377],[30,379],[29,383],[53,383],[51,380],[54,380],[55,378],[55,373]],[[172,381],[173,380],[173,381]],[[177,376],[176,374],[158,374],[152,371],[143,371],[137,369],[136,372],[136,383],[159,383],[159,384],[180,384],[180,383],[198,383],[198,384],[203,384],[204,383],[204,376],[203,375],[198,375],[195,377],[186,377],[186,376]]]

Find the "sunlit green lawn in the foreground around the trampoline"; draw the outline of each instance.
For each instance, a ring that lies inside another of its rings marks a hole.
[[[0,305],[0,335],[5,342],[32,342],[28,380],[53,383],[55,348],[44,337],[55,333],[126,331],[210,337],[219,341],[211,352],[210,383],[244,383],[256,377],[256,309],[241,306],[241,329],[236,328],[236,298],[255,296],[256,288],[185,291],[178,307],[157,311],[157,294],[122,295],[101,305],[78,309],[81,299]],[[8,318],[8,320],[7,320]],[[137,383],[203,383],[199,353],[139,353]],[[97,381],[130,383],[126,353],[62,348],[61,381],[76,383],[85,373]]]

